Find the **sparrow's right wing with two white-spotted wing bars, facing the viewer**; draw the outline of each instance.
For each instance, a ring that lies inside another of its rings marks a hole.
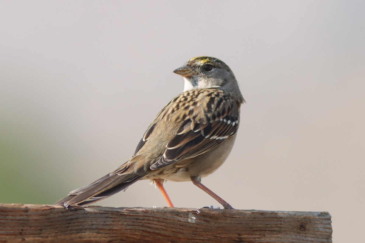
[[[160,160],[151,169],[160,169],[176,161],[193,158],[215,148],[238,129],[239,105],[225,97],[210,99],[207,109],[185,119],[166,145]],[[200,117],[200,119],[196,119]],[[201,119],[204,117],[204,119]]]

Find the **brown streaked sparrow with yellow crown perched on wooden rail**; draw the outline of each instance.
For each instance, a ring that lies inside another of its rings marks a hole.
[[[149,179],[174,207],[165,181],[192,181],[224,209],[233,209],[205,187],[201,178],[215,172],[233,148],[245,102],[230,67],[209,56],[190,59],[173,71],[184,79],[184,91],[173,98],[143,134],[133,156],[93,183],[71,191],[55,205],[86,206]]]

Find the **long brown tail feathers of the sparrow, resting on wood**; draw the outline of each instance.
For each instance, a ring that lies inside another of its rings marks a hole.
[[[129,166],[128,166],[129,167]],[[108,174],[94,181],[90,185],[78,188],[69,193],[67,197],[55,203],[55,205],[89,205],[127,189],[131,184],[141,179],[134,171],[129,173]]]

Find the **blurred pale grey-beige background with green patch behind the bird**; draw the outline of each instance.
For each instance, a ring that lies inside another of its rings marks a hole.
[[[247,103],[230,157],[203,184],[237,209],[328,211],[334,242],[362,239],[364,9],[1,1],[0,203],[53,204],[126,162],[183,91],[172,71],[208,55],[231,67]],[[190,182],[166,190],[176,207],[220,206]],[[97,205],[167,206],[147,180]]]

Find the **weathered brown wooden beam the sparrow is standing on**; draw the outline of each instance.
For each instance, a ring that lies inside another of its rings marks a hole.
[[[0,204],[0,242],[332,242],[328,212]]]

